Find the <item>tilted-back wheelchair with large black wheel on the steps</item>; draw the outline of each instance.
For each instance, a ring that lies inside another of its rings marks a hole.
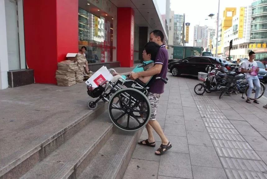
[[[115,72],[109,69],[109,72]],[[89,109],[96,109],[100,100],[108,102],[108,115],[112,123],[124,131],[136,131],[143,128],[151,116],[151,106],[146,94],[149,85],[154,80],[167,80],[161,77],[152,77],[148,84],[139,79],[124,80],[119,78],[116,82],[103,81],[94,90],[87,85],[87,94],[92,98],[87,102]]]

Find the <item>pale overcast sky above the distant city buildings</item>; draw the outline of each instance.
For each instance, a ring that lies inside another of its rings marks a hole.
[[[220,15],[223,16],[225,7],[246,7],[251,5],[255,0],[220,0]],[[216,14],[218,12],[219,0],[171,0],[171,10],[174,14],[185,13],[185,21],[190,22],[189,32],[189,46],[193,46],[194,26],[211,26],[216,28],[216,19],[205,20],[210,13]],[[157,0],[158,7],[161,14],[166,13],[166,0]],[[215,17],[215,16],[214,16]],[[216,16],[217,17],[217,16]],[[215,17],[215,18],[216,18]]]

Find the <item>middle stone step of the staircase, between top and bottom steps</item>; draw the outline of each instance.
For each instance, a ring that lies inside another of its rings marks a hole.
[[[68,178],[81,173],[112,135],[115,127],[105,111],[21,178]]]

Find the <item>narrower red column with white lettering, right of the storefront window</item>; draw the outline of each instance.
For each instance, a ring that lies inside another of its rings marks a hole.
[[[117,61],[121,67],[134,65],[134,10],[131,7],[117,9]]]

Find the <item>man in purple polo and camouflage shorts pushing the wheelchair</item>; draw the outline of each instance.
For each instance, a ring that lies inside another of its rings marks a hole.
[[[165,48],[165,45],[163,44],[163,39],[164,35],[160,30],[154,30],[150,33],[149,41],[156,42],[160,46],[159,52],[155,58],[154,62],[155,65],[150,70],[146,70],[139,73],[133,73],[132,75],[130,75],[130,78],[132,80],[136,80],[140,76],[152,76],[152,75],[154,75],[155,77],[162,77],[164,79],[166,78],[168,71],[168,51]],[[159,134],[159,137],[161,138],[162,141],[162,144],[160,145],[159,149],[155,152],[156,155],[162,155],[168,149],[172,148],[172,145],[164,135],[159,125],[159,122],[156,121],[157,108],[159,105],[159,97],[160,94],[164,92],[164,85],[165,83],[162,80],[155,80],[153,84],[150,85],[147,94],[147,98],[149,99],[151,104],[151,117],[146,125],[148,139],[138,143],[140,145],[155,147],[156,144],[153,136],[153,129],[154,129],[156,133]]]

